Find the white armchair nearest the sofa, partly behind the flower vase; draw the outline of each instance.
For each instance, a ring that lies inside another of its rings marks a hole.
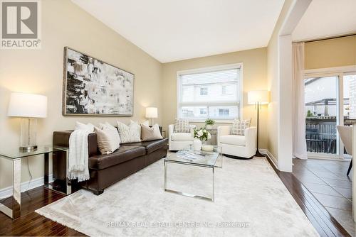
[[[174,124],[168,126],[168,150],[183,150],[193,144],[195,125],[189,125],[190,133],[175,133]]]

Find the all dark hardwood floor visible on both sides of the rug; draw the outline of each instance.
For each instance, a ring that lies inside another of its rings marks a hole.
[[[293,173],[280,172],[271,165],[320,236],[350,236]],[[36,209],[63,197],[63,194],[44,187],[23,193],[19,219],[13,221],[0,212],[0,236],[84,236],[83,233],[36,214]]]

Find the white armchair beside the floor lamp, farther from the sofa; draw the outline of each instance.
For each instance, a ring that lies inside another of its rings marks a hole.
[[[246,128],[245,136],[231,135],[231,127],[218,127],[218,146],[222,153],[237,158],[252,158],[256,153],[256,127]]]

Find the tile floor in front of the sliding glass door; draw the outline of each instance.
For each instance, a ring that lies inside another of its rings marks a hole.
[[[350,162],[334,160],[293,160],[293,175],[325,206],[351,236],[356,236],[352,220],[352,170]]]

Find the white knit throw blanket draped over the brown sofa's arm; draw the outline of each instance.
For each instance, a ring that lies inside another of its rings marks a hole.
[[[69,137],[68,179],[89,180],[88,130],[75,130]]]

